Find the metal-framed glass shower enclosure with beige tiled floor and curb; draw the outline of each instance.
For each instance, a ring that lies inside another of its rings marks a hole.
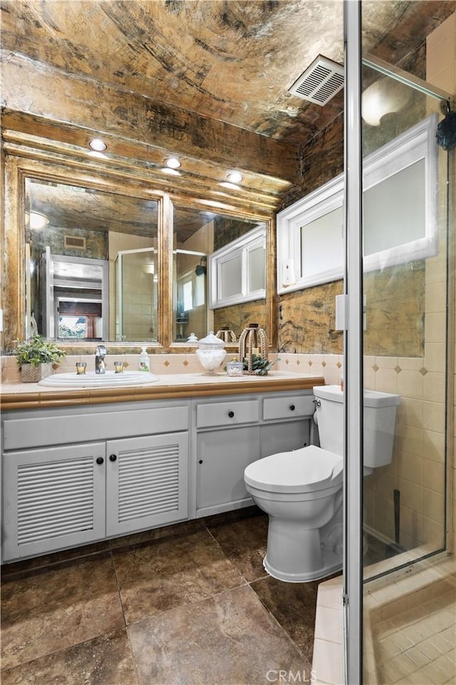
[[[387,64],[365,42],[372,11],[346,2],[345,678],[444,683],[456,679],[455,151],[437,126],[455,108],[456,20]],[[371,475],[364,389],[400,396],[393,460]]]

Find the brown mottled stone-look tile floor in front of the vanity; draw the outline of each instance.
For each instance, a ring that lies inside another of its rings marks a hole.
[[[318,583],[267,576],[266,531],[249,509],[9,564],[2,685],[309,682]]]

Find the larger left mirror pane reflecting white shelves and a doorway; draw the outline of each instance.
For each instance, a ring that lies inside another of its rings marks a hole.
[[[26,178],[26,335],[156,341],[157,201]]]

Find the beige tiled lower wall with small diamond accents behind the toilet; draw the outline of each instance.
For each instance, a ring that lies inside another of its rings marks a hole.
[[[445,302],[445,300],[443,300]],[[437,334],[436,334],[437,335]],[[369,390],[401,397],[391,465],[364,480],[365,523],[376,537],[395,541],[393,490],[400,490],[400,544],[442,546],[445,489],[445,355],[443,343],[426,345],[425,357],[365,357]],[[278,355],[278,370],[323,375],[338,384],[341,355]],[[454,468],[453,468],[454,472]]]

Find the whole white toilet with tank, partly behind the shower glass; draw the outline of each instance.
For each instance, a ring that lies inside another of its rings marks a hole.
[[[279,580],[310,582],[342,567],[343,392],[314,387],[321,447],[252,462],[244,482],[269,515],[264,568]],[[391,462],[399,395],[364,391],[364,475]]]

